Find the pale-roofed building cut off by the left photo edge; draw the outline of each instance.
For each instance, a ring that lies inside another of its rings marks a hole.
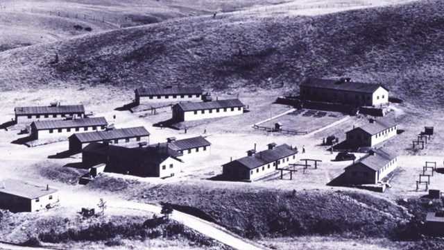
[[[41,187],[6,179],[0,181],[0,208],[12,212],[34,212],[58,202],[58,191],[53,188]]]

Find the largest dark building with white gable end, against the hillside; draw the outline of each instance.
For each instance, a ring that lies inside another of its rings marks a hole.
[[[300,83],[303,99],[377,106],[388,103],[388,89],[377,83],[358,83],[350,78],[339,80],[306,78]]]

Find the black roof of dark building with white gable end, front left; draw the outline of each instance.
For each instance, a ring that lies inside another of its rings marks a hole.
[[[151,163],[160,164],[170,156],[176,160],[182,154],[169,149],[167,147],[138,147],[127,148],[116,146],[112,144],[103,144],[99,142],[92,142],[82,149],[82,152],[99,154],[101,156],[113,156],[117,158],[127,158],[131,160],[147,160]]]

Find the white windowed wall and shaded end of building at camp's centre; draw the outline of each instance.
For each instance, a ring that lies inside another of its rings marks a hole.
[[[232,110],[233,109],[233,110]],[[219,112],[218,112],[219,110]],[[176,112],[173,111],[173,119],[178,121],[194,121],[198,119],[208,119],[216,117],[228,117],[232,115],[241,115],[244,113],[244,107],[236,108],[212,108],[211,110],[196,110],[187,111],[182,110]],[[175,116],[176,115],[176,116]]]

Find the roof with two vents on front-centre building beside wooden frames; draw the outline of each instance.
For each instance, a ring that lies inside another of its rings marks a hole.
[[[226,163],[223,166],[247,167],[248,169],[255,169],[256,167],[273,163],[276,160],[293,156],[296,153],[296,150],[292,149],[289,145],[282,144],[274,147],[274,149],[266,149],[264,151],[257,152],[253,156],[246,156],[244,158],[233,160],[232,162]]]

